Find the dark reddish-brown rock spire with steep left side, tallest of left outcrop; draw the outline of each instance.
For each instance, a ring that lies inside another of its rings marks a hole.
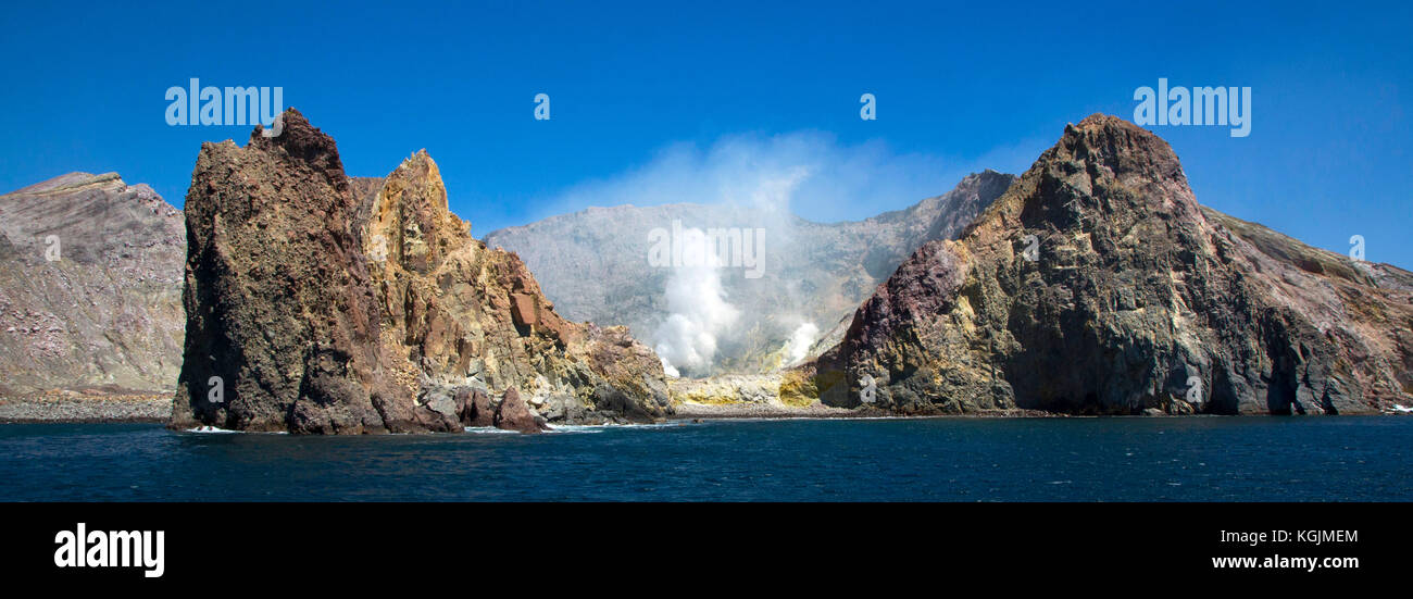
[[[386,380],[357,205],[329,136],[290,110],[278,137],[203,144],[185,209],[174,427],[427,429],[430,415]]]

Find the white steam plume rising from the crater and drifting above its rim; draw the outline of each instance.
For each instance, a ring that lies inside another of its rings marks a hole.
[[[664,281],[664,318],[640,324],[653,331],[649,339],[670,376],[708,376],[718,357],[749,350],[750,335],[780,339],[788,329],[779,326],[801,322],[786,340],[791,363],[803,360],[818,338],[818,326],[808,321],[820,316],[807,305],[815,291],[801,291],[801,281],[788,278],[784,260],[777,260],[787,259],[803,243],[801,236],[810,235],[797,227],[793,215],[828,223],[906,208],[951,189],[968,172],[986,167],[1023,171],[1048,146],[1048,140],[1040,141],[982,155],[942,157],[899,153],[882,141],[841,143],[821,131],[725,136],[709,146],[668,146],[637,168],[585,181],[537,203],[540,216],[589,206],[722,206],[718,213],[728,215],[722,222],[682,225],[763,232],[763,275],[735,264],[674,264]],[[670,225],[642,223],[644,229]]]

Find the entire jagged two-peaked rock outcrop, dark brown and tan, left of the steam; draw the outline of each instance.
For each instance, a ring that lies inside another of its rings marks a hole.
[[[349,179],[333,140],[290,110],[278,137],[202,147],[187,232],[172,427],[531,431],[668,410],[657,357],[554,314],[514,254],[447,209],[425,154]]]

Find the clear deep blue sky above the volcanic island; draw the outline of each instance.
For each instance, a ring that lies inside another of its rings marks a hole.
[[[1341,253],[1364,235],[1369,260],[1413,267],[1406,3],[324,4],[8,3],[0,189],[119,171],[181,205],[201,141],[249,136],[165,124],[164,92],[195,76],[283,86],[352,175],[427,148],[478,235],[579,208],[567,191],[667,148],[801,131],[845,162],[872,148],[930,170],[853,202],[794,199],[863,218],[974,167],[1023,171],[1064,123],[1132,119],[1135,88],[1166,76],[1253,88],[1251,137],[1154,127],[1202,203]],[[531,117],[540,92],[550,121]]]

